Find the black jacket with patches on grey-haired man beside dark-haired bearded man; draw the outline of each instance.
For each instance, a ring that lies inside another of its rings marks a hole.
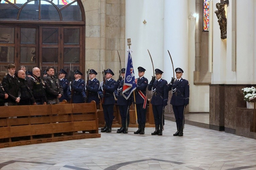
[[[32,91],[34,99],[36,102],[47,102],[46,92],[45,92],[45,82],[36,77],[34,74],[27,79],[27,85]]]

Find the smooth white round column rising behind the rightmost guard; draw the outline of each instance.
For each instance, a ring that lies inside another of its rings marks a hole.
[[[164,1],[164,74],[169,82],[173,77],[172,64],[167,50],[172,56],[174,69],[183,69],[183,77],[188,79],[188,1]],[[174,17],[175,16],[175,17]]]

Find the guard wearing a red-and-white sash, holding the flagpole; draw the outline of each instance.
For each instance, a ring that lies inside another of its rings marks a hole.
[[[139,129],[134,132],[134,134],[145,134],[145,124],[146,124],[146,112],[147,112],[147,86],[148,79],[144,77],[145,68],[138,67],[139,78],[135,79],[136,90],[135,90],[135,99],[136,99],[136,109],[138,115],[138,124]]]

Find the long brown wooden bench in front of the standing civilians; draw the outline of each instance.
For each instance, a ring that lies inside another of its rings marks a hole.
[[[0,148],[100,137],[94,101],[0,109]]]

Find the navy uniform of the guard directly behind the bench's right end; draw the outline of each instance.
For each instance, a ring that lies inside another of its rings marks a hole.
[[[89,80],[88,88],[86,90],[89,90],[88,96],[86,96],[88,98],[88,103],[91,103],[91,101],[94,100],[96,102],[96,105],[98,105],[99,104],[99,95],[98,95],[99,80],[97,80],[96,78],[94,78],[93,80]],[[84,93],[86,94],[86,91],[84,91]]]

